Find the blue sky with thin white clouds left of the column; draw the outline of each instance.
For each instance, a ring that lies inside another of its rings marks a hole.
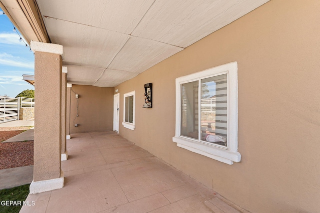
[[[34,74],[34,55],[19,38],[0,9],[0,95],[15,97],[23,90],[34,89],[22,80],[22,74]]]

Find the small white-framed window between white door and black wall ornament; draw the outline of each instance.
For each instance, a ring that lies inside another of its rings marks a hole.
[[[134,130],[134,94],[135,91],[123,95],[123,122],[125,128]]]

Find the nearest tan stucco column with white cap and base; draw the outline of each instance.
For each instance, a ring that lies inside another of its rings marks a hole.
[[[31,41],[34,51],[34,154],[30,194],[63,187],[61,171],[62,46]]]

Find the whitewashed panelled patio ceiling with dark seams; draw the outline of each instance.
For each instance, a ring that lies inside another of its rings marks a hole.
[[[36,0],[68,83],[114,87],[268,0]]]

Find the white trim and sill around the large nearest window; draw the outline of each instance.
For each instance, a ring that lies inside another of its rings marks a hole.
[[[227,137],[228,147],[219,147],[200,140],[192,140],[180,136],[181,129],[181,84],[192,82],[198,79],[208,78],[216,75],[227,74]],[[240,162],[241,155],[237,152],[237,130],[238,130],[238,91],[237,91],[237,63],[231,62],[196,72],[190,75],[181,76],[175,79],[175,136],[172,141],[178,147],[191,152],[204,155],[208,158],[232,165],[233,162]]]

